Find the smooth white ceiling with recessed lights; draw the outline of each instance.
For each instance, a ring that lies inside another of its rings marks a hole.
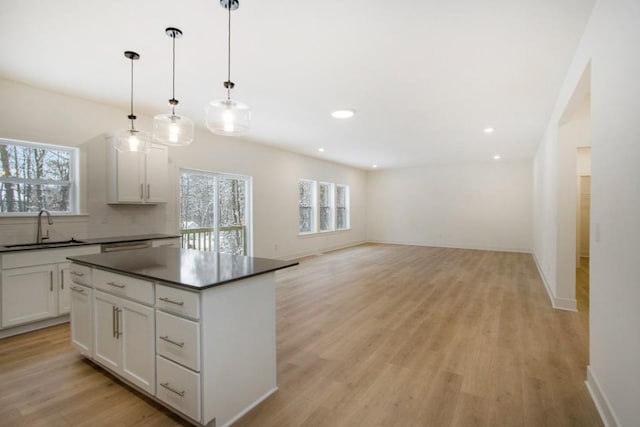
[[[531,158],[593,3],[241,0],[232,97],[252,107],[247,139],[355,167]],[[0,77],[127,111],[123,52],[135,50],[135,110],[153,116],[168,111],[174,26],[178,113],[204,127],[204,105],[225,95],[218,0],[0,0],[0,10]],[[356,115],[333,119],[339,108]]]

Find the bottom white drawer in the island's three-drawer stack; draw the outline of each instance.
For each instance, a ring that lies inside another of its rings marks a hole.
[[[156,397],[200,422],[200,374],[156,356]]]

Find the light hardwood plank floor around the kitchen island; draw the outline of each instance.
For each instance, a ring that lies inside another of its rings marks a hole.
[[[363,245],[277,273],[279,391],[237,426],[600,426],[585,316],[530,255]],[[0,341],[0,425],[183,424],[82,360]]]

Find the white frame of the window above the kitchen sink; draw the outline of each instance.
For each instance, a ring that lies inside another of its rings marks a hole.
[[[80,213],[80,155],[78,147],[65,145],[46,144],[42,142],[23,141],[11,138],[0,137],[2,145],[17,145],[21,147],[29,147],[38,150],[47,151],[63,151],[69,153],[69,180],[58,181],[51,179],[26,179],[26,178],[5,178],[0,176],[0,184],[10,182],[12,184],[40,184],[40,185],[68,185],[69,187],[69,211],[53,211],[50,212],[56,216],[73,216],[81,215]],[[0,218],[8,217],[36,217],[38,212],[0,212]]]

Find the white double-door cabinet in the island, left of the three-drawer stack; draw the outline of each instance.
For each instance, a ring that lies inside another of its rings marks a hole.
[[[94,360],[142,390],[155,393],[153,308],[93,292]]]

